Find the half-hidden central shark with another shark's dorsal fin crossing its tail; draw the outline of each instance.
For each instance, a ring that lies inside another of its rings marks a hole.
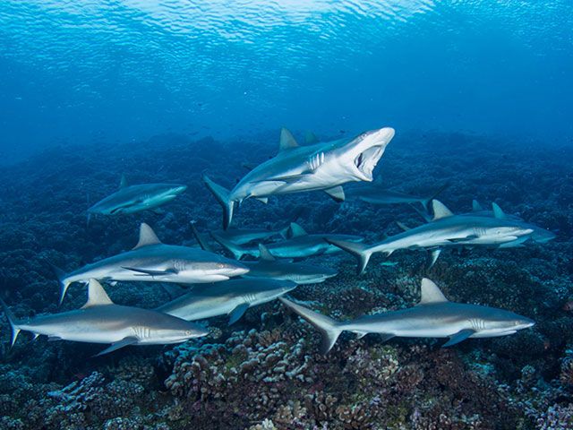
[[[227,251],[235,255],[240,260],[244,255],[260,256],[259,246],[235,245],[216,233],[211,232],[211,236],[220,244],[227,248]],[[311,234],[304,231],[304,228],[295,222],[290,225],[290,239],[280,242],[273,242],[265,245],[270,254],[278,258],[304,258],[313,255],[335,254],[339,249],[335,245],[330,245],[329,241],[346,241],[350,243],[361,242],[363,237],[338,234]]]

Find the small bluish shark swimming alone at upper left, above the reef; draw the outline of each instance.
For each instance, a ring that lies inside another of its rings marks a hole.
[[[155,209],[171,202],[186,189],[187,185],[176,184],[128,185],[125,176],[122,176],[119,190],[91,206],[88,217],[92,214],[119,215]]]

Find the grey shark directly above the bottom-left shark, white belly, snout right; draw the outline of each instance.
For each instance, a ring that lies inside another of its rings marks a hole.
[[[249,269],[240,262],[187,246],[165,245],[155,232],[141,223],[140,239],[131,250],[87,264],[65,274],[55,268],[60,280],[60,303],[73,282],[90,279],[138,280],[175,283],[208,283],[244,275]]]

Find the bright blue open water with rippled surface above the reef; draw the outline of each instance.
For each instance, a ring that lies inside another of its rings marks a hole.
[[[570,142],[571,29],[568,0],[4,0],[3,159],[282,125]]]

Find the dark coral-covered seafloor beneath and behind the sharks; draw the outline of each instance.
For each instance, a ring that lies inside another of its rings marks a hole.
[[[150,142],[64,146],[3,168],[0,288],[18,316],[58,311],[49,263],[65,270],[119,253],[141,221],[166,243],[192,245],[190,221],[218,228],[220,208],[201,184],[207,170],[233,185],[244,161],[267,159],[277,133],[255,142]],[[570,143],[570,142],[569,142]],[[315,259],[340,271],[292,296],[340,318],[414,305],[423,276],[451,299],[506,308],[535,319],[533,329],[440,348],[443,340],[362,340],[343,335],[327,357],[318,334],[278,302],[251,309],[232,327],[175,347],[124,348],[93,358],[101,345],[32,341],[9,349],[2,318],[2,429],[489,429],[573,428],[573,145],[507,142],[461,134],[401,135],[376,172],[399,190],[426,193],[449,181],[440,199],[468,211],[473,198],[549,228],[549,244],[444,252],[430,270],[421,252],[374,257],[357,277],[346,254]],[[230,172],[230,173],[229,173]],[[189,190],[163,213],[93,219],[91,202],[133,183],[176,182]],[[236,226],[278,228],[297,219],[308,231],[396,233],[394,220],[421,222],[407,206],[337,204],[322,193],[245,202]],[[152,307],[169,299],[159,285],[107,288],[120,304]],[[73,286],[64,310],[83,304]]]

